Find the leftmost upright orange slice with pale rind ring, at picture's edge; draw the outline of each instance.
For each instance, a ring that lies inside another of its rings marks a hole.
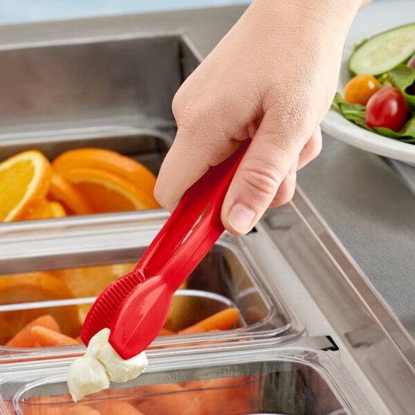
[[[24,151],[0,163],[0,221],[24,219],[49,189],[52,169],[37,150]]]

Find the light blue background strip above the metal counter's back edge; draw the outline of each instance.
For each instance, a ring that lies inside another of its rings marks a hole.
[[[250,3],[246,0],[0,0],[0,24]]]

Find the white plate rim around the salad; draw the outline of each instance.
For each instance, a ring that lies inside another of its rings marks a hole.
[[[412,3],[412,2],[409,2]],[[387,28],[392,28],[405,24],[407,21],[398,20],[388,21],[387,26],[382,30],[376,30],[376,32],[365,33],[360,37],[348,39],[344,45],[342,55],[342,66],[340,68],[340,77],[338,82],[338,92],[343,95],[344,86],[350,79],[349,71],[347,69],[347,60],[353,52],[353,48],[356,44],[362,42],[363,39],[367,39],[376,33],[380,33]],[[385,156],[394,158],[396,160],[403,161],[404,163],[415,165],[415,145],[407,142],[400,142],[392,140],[379,134],[367,131],[353,122],[346,120],[340,113],[330,110],[321,124],[322,130],[328,133],[334,138],[338,138],[344,142],[349,143],[360,149],[370,151],[371,153],[378,154],[379,156]]]

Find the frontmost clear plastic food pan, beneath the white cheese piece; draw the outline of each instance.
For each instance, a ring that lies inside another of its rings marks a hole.
[[[147,356],[149,365],[136,380],[111,383],[77,404],[68,395],[68,362],[28,365],[0,379],[0,412],[59,415],[87,405],[102,415],[114,408],[145,415],[376,414],[340,362],[322,351],[270,347]]]

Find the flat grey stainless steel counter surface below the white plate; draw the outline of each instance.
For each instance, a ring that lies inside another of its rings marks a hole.
[[[387,160],[324,136],[298,183],[415,337],[415,196]]]

